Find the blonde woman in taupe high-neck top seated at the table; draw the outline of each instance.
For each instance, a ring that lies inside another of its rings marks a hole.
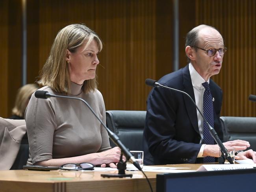
[[[102,94],[97,90],[96,66],[102,41],[83,24],[60,30],[43,66],[39,90],[86,100],[106,122]],[[108,133],[79,100],[37,99],[33,94],[25,113],[30,157],[27,164],[61,166],[89,162],[116,167],[121,151],[110,148]]]

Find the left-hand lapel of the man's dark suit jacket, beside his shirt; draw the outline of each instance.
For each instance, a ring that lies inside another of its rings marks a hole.
[[[184,85],[183,91],[189,94],[189,96],[191,96],[191,98],[195,102],[195,94],[194,94],[194,90],[191,82],[191,77],[189,74],[189,65],[187,65],[182,69],[182,73],[183,73],[183,85]],[[183,98],[184,98],[185,106],[187,109],[187,114],[189,116],[189,120],[192,126],[194,127],[195,131],[197,131],[197,133],[199,134],[197,109],[193,105],[192,101],[186,95],[183,95]]]

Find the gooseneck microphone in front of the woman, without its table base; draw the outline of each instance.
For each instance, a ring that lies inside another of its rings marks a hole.
[[[118,146],[122,153],[125,155],[126,159],[128,159],[130,162],[132,162],[132,164],[134,164],[134,166],[142,171],[141,167],[139,166],[139,163],[136,161],[135,157],[132,155],[132,153],[124,146],[124,144],[122,144],[121,140],[119,139],[119,137],[113,133],[103,122],[102,120],[96,115],[96,113],[93,111],[93,109],[91,108],[91,106],[82,98],[77,98],[77,97],[70,97],[70,96],[61,96],[61,95],[54,95],[54,94],[50,94],[48,91],[44,91],[44,90],[37,90],[35,92],[35,97],[36,98],[40,98],[40,99],[47,99],[49,97],[60,97],[60,98],[68,98],[68,99],[76,99],[76,100],[80,100],[83,103],[85,103],[85,105],[87,105],[87,107],[91,110],[91,112],[95,115],[95,117],[100,121],[100,123],[102,124],[103,127],[105,127],[105,129],[108,131],[108,135],[110,137],[110,139],[116,144],[116,146]]]

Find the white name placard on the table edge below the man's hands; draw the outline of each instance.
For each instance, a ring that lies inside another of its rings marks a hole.
[[[197,171],[223,171],[236,169],[253,169],[250,164],[209,164],[202,165]]]

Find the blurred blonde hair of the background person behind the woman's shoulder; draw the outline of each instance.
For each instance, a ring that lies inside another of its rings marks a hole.
[[[24,118],[24,113],[30,100],[31,95],[39,89],[38,85],[35,83],[24,85],[18,89],[15,106],[12,109],[12,114]]]

